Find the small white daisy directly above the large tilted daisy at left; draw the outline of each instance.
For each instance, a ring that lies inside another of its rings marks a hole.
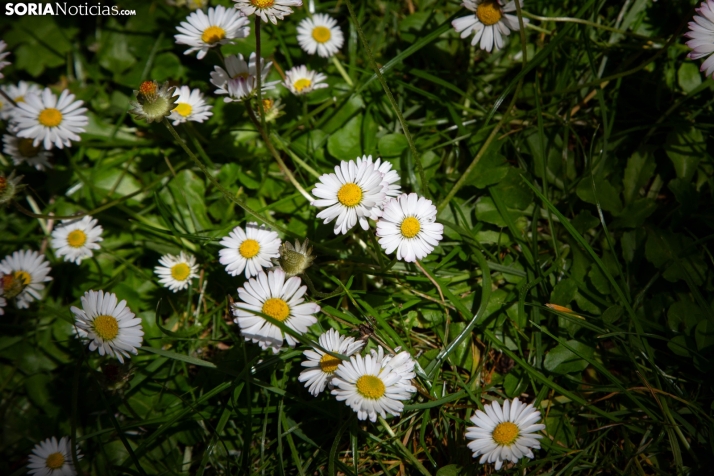
[[[84,258],[94,255],[98,242],[102,241],[104,229],[97,224],[97,219],[85,215],[80,220],[62,220],[52,230],[52,248],[58,258],[80,264]]]

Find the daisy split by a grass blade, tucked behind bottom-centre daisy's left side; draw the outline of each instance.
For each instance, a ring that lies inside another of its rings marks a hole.
[[[341,336],[335,329],[330,329],[322,334],[317,342],[323,349],[346,357],[355,354],[364,345],[362,341],[355,342],[353,337]],[[325,390],[327,385],[331,384],[332,378],[335,376],[335,370],[342,363],[342,360],[325,353],[317,347],[312,350],[306,350],[303,354],[307,357],[307,360],[304,360],[301,365],[307,367],[307,369],[300,372],[298,381],[305,382],[305,386],[308,387],[310,393],[317,397],[320,392]]]

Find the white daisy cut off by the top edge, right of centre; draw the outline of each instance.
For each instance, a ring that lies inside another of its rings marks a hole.
[[[518,31],[518,17],[509,15],[516,11],[516,3],[508,2],[501,6],[500,0],[464,0],[463,7],[474,12],[473,15],[457,18],[452,21],[454,29],[461,33],[461,38],[474,34],[471,44],[481,42],[481,49],[489,53],[496,46],[496,50],[503,48],[503,37],[511,34],[511,30]],[[521,0],[523,6],[523,0]],[[524,25],[528,19],[523,19]]]

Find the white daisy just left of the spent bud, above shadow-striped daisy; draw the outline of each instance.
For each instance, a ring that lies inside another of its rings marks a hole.
[[[220,244],[225,248],[218,252],[219,262],[231,276],[238,276],[243,270],[246,278],[255,276],[263,268],[273,266],[271,258],[280,256],[278,234],[255,222],[248,223],[245,231],[239,226],[233,228]]]

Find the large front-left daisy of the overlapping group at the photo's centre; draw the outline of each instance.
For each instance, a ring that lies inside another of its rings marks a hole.
[[[324,218],[325,224],[336,219],[337,235],[347,233],[358,220],[362,229],[369,229],[367,218],[379,213],[385,197],[382,180],[382,173],[374,164],[342,161],[335,166],[334,174],[320,176],[320,182],[312,190],[313,195],[320,198],[312,205],[329,207],[318,213],[317,218]]]

